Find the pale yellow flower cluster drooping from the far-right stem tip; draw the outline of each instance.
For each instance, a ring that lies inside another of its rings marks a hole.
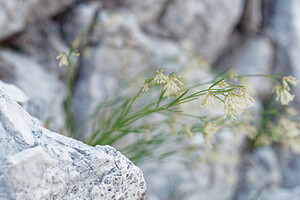
[[[296,86],[298,81],[292,76],[284,76],[281,80],[282,85],[280,83],[276,84],[272,92],[276,93],[276,101],[280,100],[282,105],[288,105],[295,98],[295,95],[290,93],[289,84]]]

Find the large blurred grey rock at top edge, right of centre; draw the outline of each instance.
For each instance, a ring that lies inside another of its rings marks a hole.
[[[239,22],[243,4],[243,0],[175,0],[167,6],[161,23],[169,36],[190,39],[197,53],[214,62]]]

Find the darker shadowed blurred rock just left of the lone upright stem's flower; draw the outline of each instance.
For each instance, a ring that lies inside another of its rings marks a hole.
[[[59,61],[55,59],[61,52],[69,52],[66,42],[60,35],[59,25],[52,20],[45,20],[27,26],[26,31],[15,37],[13,43],[23,53],[38,62],[40,67],[66,80],[67,67],[58,67]],[[73,58],[72,65],[77,67],[78,59],[73,56],[71,58]]]

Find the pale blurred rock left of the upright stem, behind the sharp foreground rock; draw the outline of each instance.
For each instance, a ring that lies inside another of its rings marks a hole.
[[[27,111],[42,122],[50,119],[50,128],[59,131],[64,127],[64,100],[66,86],[55,75],[29,57],[0,50],[0,69],[12,66],[13,73],[4,79],[21,88],[29,97]],[[4,76],[5,77],[5,76]]]

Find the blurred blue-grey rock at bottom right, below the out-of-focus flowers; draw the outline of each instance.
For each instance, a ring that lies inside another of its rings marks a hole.
[[[277,158],[270,147],[261,147],[244,154],[240,180],[233,199],[253,199],[257,196],[262,200],[299,199],[299,185],[282,185],[282,168]],[[298,175],[296,171],[293,173]]]

